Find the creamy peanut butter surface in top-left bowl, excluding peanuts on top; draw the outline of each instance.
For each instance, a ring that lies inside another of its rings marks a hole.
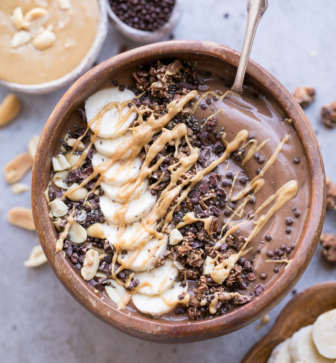
[[[97,0],[71,0],[70,4],[70,8],[61,9],[59,0],[48,1],[45,7],[27,0],[1,0],[0,79],[32,85],[49,82],[71,72],[83,60],[96,35],[99,4]],[[12,48],[13,36],[21,31],[12,19],[18,7],[23,14],[34,8],[45,9],[49,18],[43,29],[28,29],[31,41]],[[36,49],[33,37],[40,31],[50,33],[49,29],[55,34],[55,42],[47,49]]]

